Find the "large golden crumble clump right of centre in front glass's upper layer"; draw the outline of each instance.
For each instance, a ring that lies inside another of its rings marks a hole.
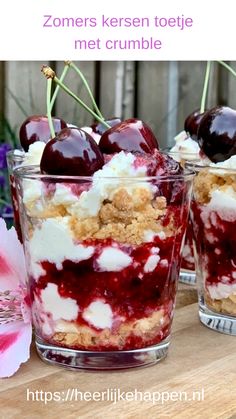
[[[163,230],[162,218],[166,212],[166,199],[152,199],[150,191],[137,188],[132,196],[119,189],[112,201],[104,201],[97,217],[79,219],[71,217],[70,226],[77,240],[112,238],[120,243],[141,244],[144,232]],[[167,230],[167,229],[166,229]],[[170,231],[165,231],[170,235]]]

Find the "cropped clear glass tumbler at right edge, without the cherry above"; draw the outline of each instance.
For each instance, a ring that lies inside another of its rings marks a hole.
[[[194,170],[191,218],[200,320],[236,335],[236,170],[199,165]]]

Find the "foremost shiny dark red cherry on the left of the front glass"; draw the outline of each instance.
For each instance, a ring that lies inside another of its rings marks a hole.
[[[91,135],[79,128],[64,128],[47,142],[40,169],[50,175],[91,176],[103,164],[103,155]]]

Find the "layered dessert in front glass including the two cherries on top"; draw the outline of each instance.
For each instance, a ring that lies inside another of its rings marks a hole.
[[[122,351],[170,334],[192,175],[130,119],[65,128],[15,171],[37,337]]]

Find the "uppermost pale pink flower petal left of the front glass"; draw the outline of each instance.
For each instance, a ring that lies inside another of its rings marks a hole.
[[[16,289],[25,281],[23,246],[14,227],[7,230],[5,221],[0,218],[0,291]]]

